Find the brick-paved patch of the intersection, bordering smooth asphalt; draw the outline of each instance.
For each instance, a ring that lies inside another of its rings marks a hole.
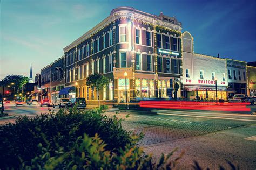
[[[151,145],[165,141],[198,136],[249,124],[223,119],[190,117],[130,116],[122,126],[133,133],[144,134],[139,145]]]

